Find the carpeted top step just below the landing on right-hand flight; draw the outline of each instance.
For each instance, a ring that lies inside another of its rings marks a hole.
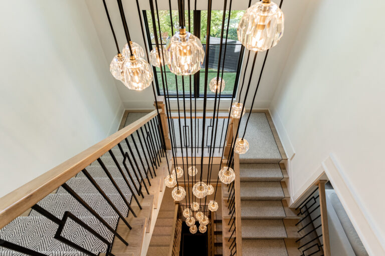
[[[241,181],[280,181],[283,178],[278,163],[241,163]]]

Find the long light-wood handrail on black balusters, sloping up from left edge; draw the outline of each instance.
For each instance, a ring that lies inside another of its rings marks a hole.
[[[159,109],[159,111],[161,111]],[[156,109],[0,198],[0,228],[31,208],[64,182],[157,115]]]

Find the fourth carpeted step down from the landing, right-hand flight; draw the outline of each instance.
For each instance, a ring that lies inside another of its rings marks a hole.
[[[282,219],[242,219],[242,238],[286,238]]]

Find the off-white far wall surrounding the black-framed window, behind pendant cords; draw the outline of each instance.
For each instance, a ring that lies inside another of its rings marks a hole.
[[[255,2],[256,0],[252,1]],[[95,29],[98,34],[100,43],[106,56],[106,63],[109,64],[112,57],[116,55],[116,46],[112,37],[111,29],[105,14],[104,6],[101,0],[86,0],[87,6],[95,24]],[[115,29],[115,33],[118,39],[119,47],[122,48],[126,43],[122,21],[119,15],[119,10],[116,0],[106,0],[107,6],[110,12],[111,20]],[[194,0],[190,0],[191,9],[194,8]],[[228,0],[228,4],[229,4]],[[149,9],[148,0],[139,0],[141,9]],[[177,1],[171,0],[172,9],[177,9]],[[248,0],[233,0],[232,9],[246,9]],[[131,39],[142,45],[144,48],[144,42],[142,39],[139,16],[135,0],[123,0],[123,7],[128,23],[128,29],[130,31]],[[158,0],[159,9],[168,9],[168,0]],[[284,0],[282,4],[282,10],[285,14],[285,31],[281,41],[269,51],[269,55],[266,60],[265,69],[262,75],[261,83],[257,92],[256,100],[253,108],[268,108],[270,101],[274,96],[277,84],[281,77],[282,70],[285,66],[290,49],[295,47],[293,45],[294,39],[297,34],[299,24],[302,19],[302,14],[306,11],[306,0]],[[223,0],[213,0],[213,9],[222,9]],[[207,0],[198,0],[197,9],[207,9]],[[254,54],[251,54],[251,56]],[[245,62],[247,52],[245,52]],[[262,67],[262,62],[265,57],[265,52],[260,52],[257,56],[257,62],[253,72],[251,81],[251,88],[248,95],[248,101],[246,107],[250,108],[252,97],[254,95],[255,87],[258,82],[258,77]],[[251,58],[252,59],[252,58]],[[106,65],[108,69],[108,65]],[[243,65],[245,68],[245,65]],[[243,69],[242,68],[242,69]],[[249,69],[251,68],[251,61],[249,61]],[[245,86],[247,85],[250,72],[246,72]],[[241,72],[240,81],[242,81],[243,70]],[[143,91],[133,91],[127,89],[120,81],[115,80],[115,85],[119,91],[123,105],[128,109],[149,109],[153,108],[153,91],[151,86]],[[240,86],[239,86],[240,87]],[[245,91],[245,90],[244,90]],[[244,95],[244,93],[243,93]],[[197,101],[198,102],[198,101]],[[230,102],[227,100],[221,101],[221,108],[228,109]],[[210,104],[211,103],[211,104]],[[198,103],[199,104],[199,103]],[[188,105],[188,104],[187,104]],[[212,107],[212,102],[208,103],[208,107]]]

